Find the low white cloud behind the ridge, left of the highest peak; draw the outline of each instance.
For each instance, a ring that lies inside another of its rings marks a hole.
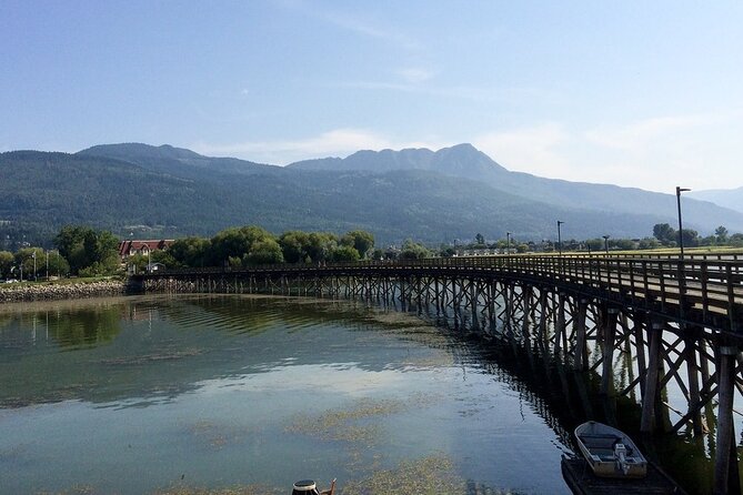
[[[299,160],[347,156],[359,150],[442,148],[423,141],[399,141],[364,129],[335,129],[298,140],[248,141],[231,144],[195,143],[194,151],[211,155],[239,156],[262,163],[285,165]]]

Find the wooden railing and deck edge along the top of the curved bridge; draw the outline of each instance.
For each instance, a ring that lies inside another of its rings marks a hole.
[[[725,326],[736,330],[743,316],[743,260],[732,254],[686,256],[629,255],[501,255],[433,257],[423,260],[361,261],[320,264],[274,264],[250,269],[185,269],[144,275],[189,276],[214,274],[301,273],[328,274],[458,274],[495,275],[552,284],[586,295],[622,303],[660,307],[680,319],[695,315],[704,321],[726,317]]]

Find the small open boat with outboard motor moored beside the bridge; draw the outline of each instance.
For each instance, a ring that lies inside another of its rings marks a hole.
[[[589,421],[575,428],[575,438],[596,476],[641,478],[647,475],[647,461],[623,432]]]

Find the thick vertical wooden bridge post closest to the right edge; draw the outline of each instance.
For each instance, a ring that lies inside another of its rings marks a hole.
[[[720,397],[717,405],[717,448],[714,458],[714,489],[715,495],[740,494],[740,486],[730,486],[730,471],[737,471],[737,465],[731,463],[731,449],[735,448],[733,438],[733,396],[735,393],[735,356],[737,348],[721,346],[717,353],[720,376]]]

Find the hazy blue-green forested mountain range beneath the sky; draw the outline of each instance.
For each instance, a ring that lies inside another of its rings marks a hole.
[[[288,166],[170,145],[104,144],[78,153],[0,153],[0,233],[50,238],[68,223],[122,238],[212,235],[233,225],[345,232],[378,243],[475,233],[541,240],[652,235],[676,222],[673,194],[511,172],[470,144],[359,151]],[[731,205],[733,205],[731,203]],[[684,226],[743,232],[743,213],[684,196]],[[8,234],[7,234],[8,235]],[[4,235],[4,236],[7,236]]]

